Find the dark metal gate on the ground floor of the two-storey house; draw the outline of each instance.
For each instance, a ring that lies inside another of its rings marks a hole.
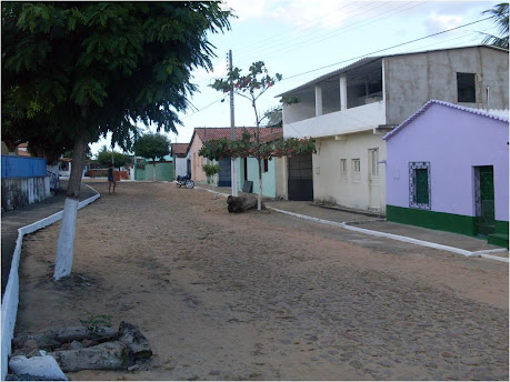
[[[313,200],[312,155],[289,158],[289,200]]]

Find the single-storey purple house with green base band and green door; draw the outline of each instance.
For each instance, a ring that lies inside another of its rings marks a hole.
[[[508,248],[508,112],[430,100],[383,139],[389,221]]]

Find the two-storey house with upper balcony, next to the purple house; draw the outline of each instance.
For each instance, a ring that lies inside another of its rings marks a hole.
[[[384,133],[430,99],[508,108],[508,51],[476,46],[361,59],[280,96],[283,135],[312,137],[317,153],[291,158],[277,185],[304,198],[386,212]]]

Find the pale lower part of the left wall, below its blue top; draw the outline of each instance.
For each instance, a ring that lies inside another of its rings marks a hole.
[[[2,179],[2,209],[10,211],[51,197],[50,178]]]

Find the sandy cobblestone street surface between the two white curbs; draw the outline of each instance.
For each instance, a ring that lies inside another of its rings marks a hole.
[[[71,380],[508,380],[508,264],[172,183],[91,184],[74,278],[51,281],[59,224],[24,240],[17,333],[110,314],[150,368]],[[78,278],[77,278],[78,275]]]

